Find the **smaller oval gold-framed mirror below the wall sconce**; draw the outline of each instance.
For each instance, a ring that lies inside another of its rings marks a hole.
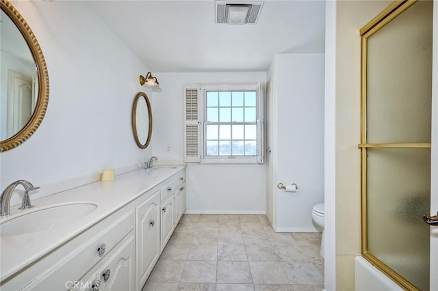
[[[132,130],[137,146],[147,148],[152,136],[152,110],[149,98],[140,92],[132,106]]]

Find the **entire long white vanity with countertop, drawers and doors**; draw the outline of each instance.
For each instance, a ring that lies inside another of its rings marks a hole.
[[[141,290],[185,211],[185,166],[131,171],[33,204],[0,220],[1,290]]]

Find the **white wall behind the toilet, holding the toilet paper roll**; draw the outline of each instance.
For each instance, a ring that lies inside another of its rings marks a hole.
[[[268,78],[274,228],[316,231],[312,207],[324,202],[324,54],[276,55]],[[279,182],[298,190],[287,193]]]

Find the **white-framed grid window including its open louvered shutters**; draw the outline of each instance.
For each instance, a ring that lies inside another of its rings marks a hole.
[[[259,83],[186,86],[185,161],[263,163],[262,100]]]

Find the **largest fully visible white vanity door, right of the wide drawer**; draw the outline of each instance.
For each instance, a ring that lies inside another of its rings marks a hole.
[[[159,191],[136,207],[137,290],[148,279],[159,258]]]

